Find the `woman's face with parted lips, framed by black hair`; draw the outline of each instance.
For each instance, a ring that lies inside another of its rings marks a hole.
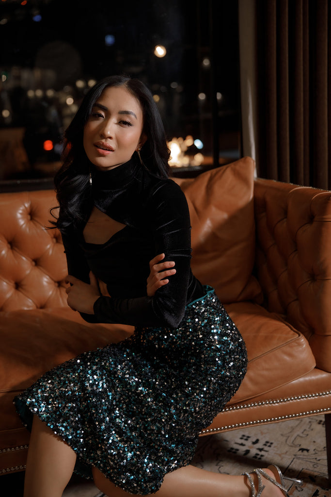
[[[85,124],[83,145],[97,169],[128,162],[146,137],[142,135],[140,102],[124,86],[105,88]]]

